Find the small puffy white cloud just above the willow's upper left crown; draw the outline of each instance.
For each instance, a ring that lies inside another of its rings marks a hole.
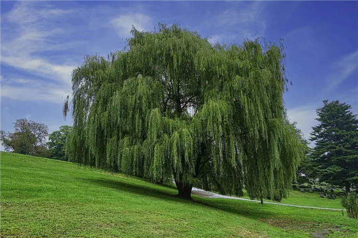
[[[111,20],[120,36],[130,36],[132,26],[138,31],[148,30],[152,27],[150,16],[143,13],[123,14]]]

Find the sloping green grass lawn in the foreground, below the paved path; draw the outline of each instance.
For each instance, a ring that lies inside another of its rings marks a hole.
[[[335,230],[329,237],[357,237],[358,221],[346,212],[189,202],[175,194],[140,179],[0,152],[0,237],[311,237],[327,228]]]

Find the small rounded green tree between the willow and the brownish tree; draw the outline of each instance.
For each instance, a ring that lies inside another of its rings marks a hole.
[[[68,160],[65,155],[66,138],[71,133],[71,126],[60,126],[58,131],[54,131],[49,135],[47,145],[51,151],[51,158],[59,160]]]

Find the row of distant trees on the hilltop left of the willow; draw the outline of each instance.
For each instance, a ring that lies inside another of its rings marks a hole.
[[[0,130],[0,142],[8,152],[68,160],[66,138],[71,131],[71,126],[61,126],[49,135],[47,125],[21,118],[14,123],[13,133]]]

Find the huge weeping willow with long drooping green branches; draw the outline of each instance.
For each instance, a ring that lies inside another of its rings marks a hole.
[[[177,25],[131,34],[124,50],[73,71],[70,160],[174,179],[182,198],[193,186],[286,197],[302,148],[286,122],[282,45],[212,45]]]

